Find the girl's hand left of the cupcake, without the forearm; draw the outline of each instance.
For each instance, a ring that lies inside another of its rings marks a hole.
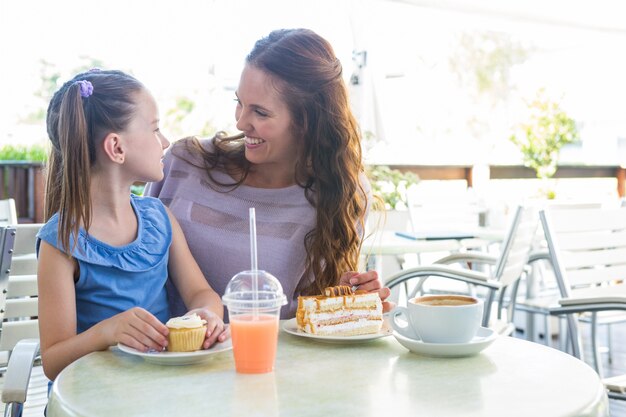
[[[133,307],[123,313],[100,322],[102,334],[109,346],[123,343],[147,352],[162,351],[167,347],[167,327],[141,307]]]

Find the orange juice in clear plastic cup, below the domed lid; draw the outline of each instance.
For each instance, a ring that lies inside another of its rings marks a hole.
[[[274,370],[278,315],[233,314],[230,332],[237,372],[261,374]]]

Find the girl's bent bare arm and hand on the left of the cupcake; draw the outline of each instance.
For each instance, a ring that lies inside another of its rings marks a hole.
[[[139,307],[76,334],[75,260],[42,241],[39,250],[39,336],[46,376],[54,380],[76,359],[118,342],[145,351],[167,346],[167,327]]]

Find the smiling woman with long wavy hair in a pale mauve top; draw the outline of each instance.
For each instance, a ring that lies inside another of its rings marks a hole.
[[[348,272],[357,268],[370,189],[331,45],[307,29],[270,33],[246,58],[236,102],[240,135],[180,141],[165,158],[165,179],[146,189],[177,217],[212,287],[223,294],[250,269],[255,207],[258,265],[283,286],[283,318],[294,317],[298,295],[327,286],[385,299],[375,272]],[[185,308],[171,290],[176,314]]]

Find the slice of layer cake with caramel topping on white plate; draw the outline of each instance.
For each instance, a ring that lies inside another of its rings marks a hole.
[[[298,297],[296,320],[298,329],[321,336],[377,333],[383,325],[383,305],[378,293],[328,287],[324,295]]]

